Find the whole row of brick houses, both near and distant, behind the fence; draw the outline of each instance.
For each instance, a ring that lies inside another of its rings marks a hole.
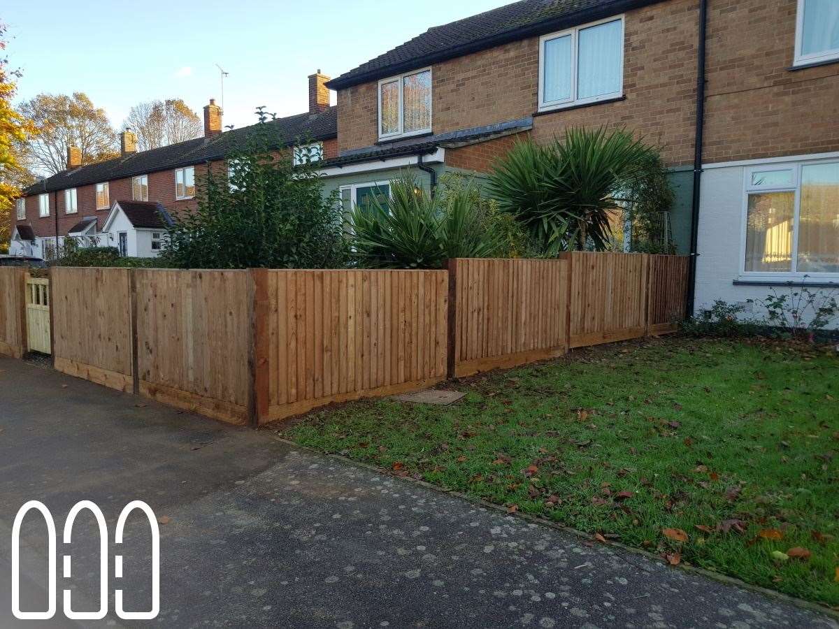
[[[122,158],[103,164],[74,168],[71,154],[26,191],[15,237],[44,247],[104,231],[153,255],[162,223],[135,218],[188,209],[195,166],[224,160],[252,128],[221,133],[212,103],[205,121],[205,138],[145,153],[123,135]],[[270,124],[278,148],[318,143],[326,192],[345,205],[386,197],[404,169],[432,189],[448,171],[482,177],[519,138],[625,126],[671,170],[697,308],[839,283],[839,0],[523,0],[336,79],[319,71],[310,111]]]

